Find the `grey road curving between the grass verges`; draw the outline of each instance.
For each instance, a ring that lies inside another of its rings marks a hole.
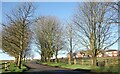
[[[90,70],[73,70],[73,69],[66,69],[66,68],[58,68],[58,67],[51,67],[46,65],[37,64],[36,62],[27,63],[26,66],[29,68],[28,71],[25,72],[33,72],[33,73],[41,73],[41,72],[50,72],[50,73],[61,73],[66,74],[68,72],[72,72],[75,74],[90,74]]]

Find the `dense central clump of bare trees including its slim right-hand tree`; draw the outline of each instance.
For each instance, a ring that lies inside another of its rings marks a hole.
[[[62,27],[59,20],[53,16],[41,16],[35,20],[35,34],[39,45],[41,61],[50,62],[55,54],[58,62],[58,51],[63,48]],[[48,59],[48,60],[47,60]]]

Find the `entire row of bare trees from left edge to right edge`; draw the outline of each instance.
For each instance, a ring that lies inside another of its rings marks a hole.
[[[68,63],[71,64],[75,46],[82,45],[89,51],[95,66],[96,56],[119,39],[115,31],[119,23],[116,8],[114,3],[82,3],[70,21],[72,23],[65,24],[64,28],[55,16],[32,19],[35,8],[32,3],[24,3],[11,15],[6,15],[8,22],[3,24],[2,49],[14,56],[17,66],[21,68],[24,52],[34,36],[42,62],[49,63],[55,55],[57,63],[58,51],[68,49]],[[31,30],[30,25],[34,25],[34,29]]]

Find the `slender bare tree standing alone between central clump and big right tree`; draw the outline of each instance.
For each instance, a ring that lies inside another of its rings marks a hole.
[[[68,64],[71,64],[71,60],[73,59],[73,51],[78,44],[78,39],[75,34],[75,26],[72,24],[68,24],[66,27],[66,42],[68,46]]]

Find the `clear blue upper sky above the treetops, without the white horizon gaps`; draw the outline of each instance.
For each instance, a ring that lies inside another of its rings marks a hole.
[[[20,5],[20,2],[3,2],[2,3],[2,13],[4,18],[4,13],[11,13],[11,9],[16,8]],[[35,11],[36,16],[40,15],[53,15],[59,17],[61,20],[67,20],[70,18],[73,10],[77,6],[76,2],[36,2],[34,3],[37,8]]]

